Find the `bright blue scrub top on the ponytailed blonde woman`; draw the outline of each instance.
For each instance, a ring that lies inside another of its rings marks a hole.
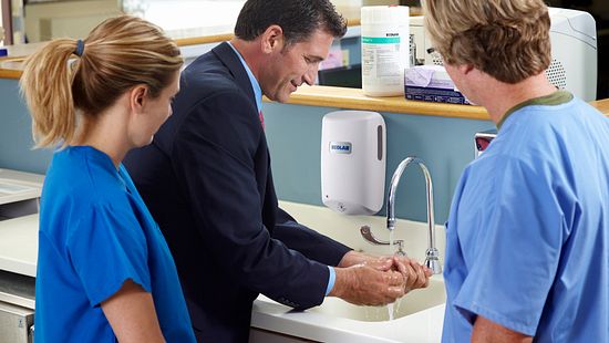
[[[167,342],[195,342],[176,267],[127,172],[87,146],[54,154],[42,190],[35,342],[115,342],[100,303],[133,280]]]

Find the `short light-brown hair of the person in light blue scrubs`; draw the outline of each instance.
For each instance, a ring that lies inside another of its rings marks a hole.
[[[543,0],[424,0],[425,27],[448,64],[472,64],[498,81],[518,83],[551,61]]]

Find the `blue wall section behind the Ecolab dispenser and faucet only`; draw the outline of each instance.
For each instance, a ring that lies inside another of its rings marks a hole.
[[[332,107],[264,104],[272,169],[280,199],[321,202],[321,119]],[[407,156],[417,156],[430,169],[434,186],[435,220],[448,217],[454,188],[463,168],[474,158],[474,134],[495,127],[491,121],[381,113],[388,129],[385,195],[393,172]],[[395,212],[400,218],[426,220],[425,180],[410,166],[402,175]],[[379,215],[384,215],[381,209]]]

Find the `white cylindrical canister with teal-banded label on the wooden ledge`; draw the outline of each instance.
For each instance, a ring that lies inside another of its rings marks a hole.
[[[404,95],[404,71],[410,67],[409,13],[406,6],[362,7],[362,89],[365,95]]]

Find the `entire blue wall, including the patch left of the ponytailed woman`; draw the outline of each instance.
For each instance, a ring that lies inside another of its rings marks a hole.
[[[33,150],[31,121],[17,80],[0,79],[0,168],[44,173],[48,149]],[[321,205],[321,119],[332,107],[265,103],[277,193],[280,199]],[[444,222],[465,165],[473,159],[473,136],[494,127],[492,122],[437,116],[381,113],[388,126],[388,175],[411,155],[425,160],[434,183],[435,219]],[[386,185],[385,185],[386,188]],[[385,189],[386,194],[386,189]],[[421,172],[409,167],[396,195],[400,218],[425,220],[425,184]],[[385,209],[380,211],[384,215]]]

